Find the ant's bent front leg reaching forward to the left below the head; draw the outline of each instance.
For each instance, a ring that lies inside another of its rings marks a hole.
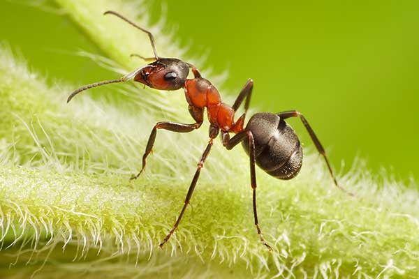
[[[138,172],[137,175],[132,176],[130,178],[130,180],[138,179],[138,176],[140,176],[140,174],[144,171],[147,156],[149,156],[149,153],[152,152],[154,142],[156,141],[156,135],[157,135],[157,130],[158,129],[170,130],[172,132],[177,132],[177,133],[189,133],[189,132],[192,132],[193,130],[196,130],[196,129],[200,128],[201,124],[203,123],[203,119],[204,119],[204,110],[200,109],[200,108],[197,108],[197,107],[193,107],[193,106],[190,105],[189,106],[189,113],[191,114],[193,119],[196,121],[196,123],[184,124],[184,123],[175,123],[175,122],[169,122],[169,121],[156,123],[156,125],[154,126],[154,128],[152,130],[152,133],[150,134],[149,139],[147,141],[147,146],[145,147],[145,152],[142,155],[141,170],[140,170],[140,172]]]

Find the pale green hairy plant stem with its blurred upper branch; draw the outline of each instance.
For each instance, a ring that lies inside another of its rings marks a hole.
[[[135,19],[129,4],[57,2],[126,71],[136,67],[128,58],[136,42],[142,46],[136,53],[152,52],[145,36],[140,40],[141,33],[96,10]],[[161,50],[163,37],[156,37],[159,52],[169,53]],[[182,92],[128,84],[119,88],[130,102],[91,100],[86,92],[67,105],[76,86],[48,88],[1,51],[2,275],[42,267],[40,278],[110,270],[128,278],[418,276],[416,190],[393,181],[377,186],[355,165],[339,177],[358,195],[348,197],[333,186],[318,156],[306,156],[292,181],[258,170],[258,216],[274,248],[269,252],[253,225],[249,158],[221,144],[214,144],[179,229],[159,250],[205,148],[206,128],[188,135],[159,132],[145,175],[129,183],[154,123],[190,121]],[[105,86],[96,90],[107,92]],[[33,266],[25,267],[28,260]]]

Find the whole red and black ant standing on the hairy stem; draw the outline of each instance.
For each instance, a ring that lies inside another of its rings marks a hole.
[[[149,153],[152,151],[154,141],[156,140],[157,130],[170,130],[177,133],[189,133],[193,130],[200,128],[204,119],[204,109],[207,109],[207,117],[210,121],[210,131],[209,137],[210,140],[200,158],[198,167],[196,169],[195,175],[193,176],[191,185],[189,186],[188,193],[184,200],[184,206],[182,211],[179,214],[179,217],[176,220],[175,225],[172,227],[165,239],[159,244],[160,248],[170,239],[170,236],[175,232],[179,226],[186,206],[189,204],[193,190],[195,190],[196,183],[200,175],[200,170],[203,168],[205,159],[210,153],[214,138],[219,135],[221,131],[221,141],[223,146],[226,149],[233,149],[237,144],[242,144],[244,150],[247,152],[250,158],[250,181],[251,188],[253,190],[253,216],[256,225],[256,229],[260,238],[260,241],[269,249],[272,248],[269,246],[267,241],[263,238],[262,231],[258,222],[258,213],[256,209],[256,172],[255,165],[258,165],[263,169],[267,174],[274,176],[277,179],[292,179],[295,177],[298,172],[300,172],[302,166],[302,147],[300,140],[298,140],[297,134],[291,128],[291,126],[286,123],[286,119],[290,117],[300,117],[304,127],[307,129],[311,140],[314,142],[316,149],[325,159],[325,163],[328,166],[330,175],[335,183],[337,188],[344,190],[337,183],[335,174],[330,167],[328,158],[326,157],[325,149],[321,145],[318,137],[314,134],[313,129],[307,122],[307,119],[296,110],[279,112],[278,114],[272,114],[269,112],[258,112],[251,116],[249,123],[244,127],[244,118],[249,109],[249,103],[251,98],[251,92],[253,90],[253,80],[248,80],[244,85],[242,91],[240,91],[239,96],[235,100],[232,106],[222,103],[221,96],[219,91],[211,84],[210,81],[201,77],[198,69],[193,66],[191,63],[186,63],[182,60],[175,58],[161,58],[157,55],[156,46],[154,43],[154,37],[151,32],[139,27],[137,24],[126,19],[126,17],[116,13],[112,10],[109,10],[104,13],[105,15],[116,15],[125,22],[133,25],[133,27],[140,29],[149,36],[150,43],[154,52],[155,61],[149,63],[146,66],[142,66],[134,70],[124,77],[119,78],[118,80],[105,80],[102,82],[95,82],[93,84],[87,84],[80,87],[71,93],[68,97],[67,103],[81,91],[91,89],[96,86],[101,86],[104,84],[116,83],[116,82],[126,82],[133,79],[135,82],[140,82],[145,84],[153,89],[161,90],[177,90],[180,88],[184,89],[186,101],[189,104],[189,113],[191,114],[195,123],[186,124],[186,123],[175,123],[170,121],[158,122],[152,129],[152,133],[149,135],[147,141],[147,146],[145,148],[145,153],[142,156],[142,167],[140,172],[137,175],[132,176],[130,180],[137,179],[138,176],[144,171],[146,166],[146,159],[149,156]],[[138,54],[133,54],[135,56],[140,56]],[[140,58],[149,60],[140,56]],[[189,69],[192,70],[194,75],[193,79],[188,79]],[[244,113],[234,121],[235,112],[244,102]],[[230,138],[230,133],[235,133],[233,137]],[[353,195],[346,192],[348,195]]]

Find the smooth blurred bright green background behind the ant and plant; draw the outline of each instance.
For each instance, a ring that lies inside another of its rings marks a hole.
[[[101,51],[68,17],[29,3],[34,2],[0,1],[1,42],[50,83],[64,80],[77,87],[113,77],[75,56],[77,50]],[[198,68],[228,70],[222,95],[237,94],[251,77],[252,107],[302,112],[338,171],[347,171],[358,156],[375,174],[384,167],[397,179],[418,179],[419,1],[145,5],[152,23],[163,12],[163,31],[176,30],[176,43],[188,46],[191,56],[207,56]],[[314,150],[300,121],[290,123]]]

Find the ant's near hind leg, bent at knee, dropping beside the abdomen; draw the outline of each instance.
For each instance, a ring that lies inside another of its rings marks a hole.
[[[242,132],[237,133],[234,137],[230,139],[228,133],[222,133],[221,137],[223,139],[223,144],[226,146],[226,149],[230,150],[233,149],[234,146],[240,144],[246,138],[249,140],[249,158],[250,158],[250,181],[251,181],[251,188],[253,189],[253,216],[255,219],[256,229],[259,234],[260,241],[262,241],[263,245],[266,246],[270,251],[272,251],[272,247],[267,244],[265,239],[263,238],[262,230],[259,226],[258,221],[258,211],[256,209],[256,156],[255,156],[255,142],[253,140],[253,134],[249,130],[242,130]]]

